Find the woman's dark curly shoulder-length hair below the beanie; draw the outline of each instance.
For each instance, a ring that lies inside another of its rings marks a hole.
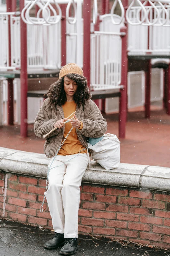
[[[88,99],[92,97],[89,88],[87,86],[87,79],[84,76],[78,74],[67,74],[66,77],[75,81],[78,85],[77,90],[73,96],[75,103],[80,107]],[[55,105],[64,105],[67,101],[66,94],[64,91],[64,77],[61,77],[57,82],[53,83],[48,89],[45,97],[50,98],[50,102]]]

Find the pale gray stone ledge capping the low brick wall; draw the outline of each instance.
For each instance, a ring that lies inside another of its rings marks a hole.
[[[44,154],[0,147],[0,170],[5,172],[46,178],[49,162]],[[94,161],[91,163],[83,182],[170,191],[170,168],[120,163],[118,168],[106,170]]]

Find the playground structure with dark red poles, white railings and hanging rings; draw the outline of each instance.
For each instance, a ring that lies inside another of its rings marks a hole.
[[[117,3],[121,16],[114,14]],[[72,4],[74,17],[69,17]],[[33,7],[35,17],[30,16]],[[21,0],[20,13],[12,8],[7,0],[8,12],[0,13],[0,70],[1,77],[8,79],[9,124],[13,124],[13,79],[20,78],[21,136],[27,136],[27,97],[44,94],[28,92],[27,79],[57,77],[68,62],[83,68],[102,111],[105,98],[119,97],[119,137],[125,137],[128,71],[145,71],[145,117],[149,118],[151,64],[165,68],[164,106],[170,114],[170,2],[133,0],[128,7],[127,1],[115,0],[108,14],[108,1],[103,0],[99,15],[95,0],[92,20],[91,0]]]

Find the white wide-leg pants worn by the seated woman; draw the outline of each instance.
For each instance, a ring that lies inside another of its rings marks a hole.
[[[49,166],[52,160],[53,158]],[[50,169],[48,190],[44,194],[49,206],[53,229],[57,233],[64,233],[64,238],[78,237],[80,185],[87,165],[86,153],[57,155],[51,165],[51,168],[55,168]]]

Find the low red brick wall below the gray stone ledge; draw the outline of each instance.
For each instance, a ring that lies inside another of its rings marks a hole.
[[[0,172],[2,216],[4,173]],[[46,181],[8,174],[5,218],[52,228],[45,201]],[[80,233],[170,248],[170,193],[123,187],[82,184],[78,230]]]

